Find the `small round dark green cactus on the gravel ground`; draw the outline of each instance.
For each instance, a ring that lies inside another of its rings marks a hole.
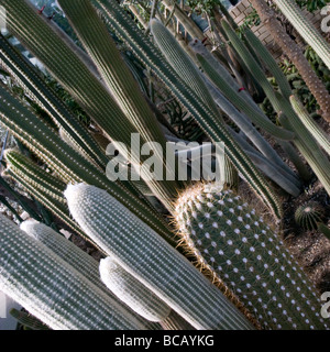
[[[308,201],[296,210],[295,220],[300,228],[312,231],[318,229],[318,223],[322,222],[323,216],[324,211],[320,204]]]

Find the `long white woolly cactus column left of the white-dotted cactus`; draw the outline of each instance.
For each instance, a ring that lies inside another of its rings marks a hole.
[[[253,328],[187,258],[109,194],[79,184],[65,196],[88,235],[196,329]]]

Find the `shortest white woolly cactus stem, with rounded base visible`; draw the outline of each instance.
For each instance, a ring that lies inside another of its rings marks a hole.
[[[99,271],[105,285],[136,314],[157,322],[168,317],[172,309],[112,257],[101,260]]]

